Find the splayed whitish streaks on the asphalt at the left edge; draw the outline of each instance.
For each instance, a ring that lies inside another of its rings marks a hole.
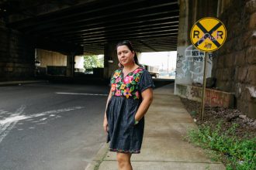
[[[5,119],[0,120],[0,143],[9,134],[9,132],[12,130],[12,128],[14,128],[14,126],[18,123],[18,121],[29,120],[29,119],[32,119],[35,117],[43,117],[43,116],[48,116],[48,115],[50,117],[53,117],[55,114],[64,113],[64,112],[71,111],[71,110],[78,110],[78,109],[82,109],[84,107],[80,107],[80,106],[67,107],[64,109],[49,110],[49,111],[44,111],[39,114],[32,114],[32,115],[24,115],[23,111],[25,110],[25,108],[26,108],[26,106],[22,105],[21,107],[19,107],[18,110],[16,110],[15,113],[13,113],[13,114],[10,113],[9,117],[5,117]],[[46,120],[47,120],[46,117],[43,117],[40,119],[40,121],[46,121]]]

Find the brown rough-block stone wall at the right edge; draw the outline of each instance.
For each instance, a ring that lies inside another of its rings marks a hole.
[[[255,118],[256,0],[223,2],[219,18],[227,27],[227,40],[213,58],[216,87],[234,93],[237,108]]]

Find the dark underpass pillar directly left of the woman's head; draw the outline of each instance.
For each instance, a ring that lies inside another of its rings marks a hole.
[[[113,71],[119,68],[118,63],[116,43],[106,43],[104,48],[104,79],[109,79],[112,76]]]

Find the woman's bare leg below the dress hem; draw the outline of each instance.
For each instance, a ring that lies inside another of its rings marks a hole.
[[[132,165],[130,164],[130,153],[116,153],[118,169],[119,170],[133,170]]]

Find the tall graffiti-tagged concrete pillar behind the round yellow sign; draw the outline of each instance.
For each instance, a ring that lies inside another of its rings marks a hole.
[[[206,16],[216,17],[217,1],[180,0],[180,17],[178,27],[178,46],[175,84],[202,83],[204,53],[192,46],[190,30],[193,24]],[[208,53],[206,77],[211,77],[214,53]],[[175,86],[175,94],[176,86]]]

